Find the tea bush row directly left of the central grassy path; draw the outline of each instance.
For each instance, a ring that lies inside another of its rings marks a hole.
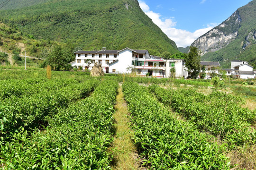
[[[106,170],[111,156],[118,83],[103,81],[90,97],[59,110],[43,131],[27,130],[0,142],[4,169]]]

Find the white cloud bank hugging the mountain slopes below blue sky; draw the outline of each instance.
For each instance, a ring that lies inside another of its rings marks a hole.
[[[210,23],[207,25],[206,28],[201,28],[192,33],[186,30],[174,28],[177,23],[173,21],[174,17],[162,19],[161,15],[159,13],[151,11],[145,2],[139,1],[139,6],[145,12],[145,14],[152,19],[155,25],[159,26],[162,31],[176,43],[177,47],[190,46],[192,42],[194,42],[201,35],[207,33],[213,27],[219,25],[218,23]]]

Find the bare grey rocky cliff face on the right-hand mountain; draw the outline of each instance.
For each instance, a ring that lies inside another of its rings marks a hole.
[[[201,55],[218,51],[235,40],[240,23],[241,17],[237,10],[226,21],[195,40],[192,46],[198,47],[201,50]]]

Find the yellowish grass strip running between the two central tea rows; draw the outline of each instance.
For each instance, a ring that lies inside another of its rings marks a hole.
[[[133,131],[129,128],[129,112],[121,86],[118,92],[115,105],[116,113],[113,115],[116,136],[109,148],[109,151],[113,154],[111,168],[113,170],[137,170],[140,167],[140,162],[138,161],[137,148],[132,141]]]

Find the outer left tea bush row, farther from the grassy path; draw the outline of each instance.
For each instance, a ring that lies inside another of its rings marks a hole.
[[[11,89],[9,93],[1,93],[5,98],[2,98],[1,106],[3,107],[0,107],[0,137],[5,140],[8,140],[10,132],[21,128],[47,126],[48,117],[67,107],[74,100],[89,96],[89,93],[99,84],[98,80],[85,81],[80,84],[69,82],[70,84],[67,85],[58,84],[59,81],[56,81],[57,83],[49,81],[39,83],[40,89],[33,89],[27,84],[21,84],[19,88],[18,80],[15,81],[7,87]],[[3,89],[8,91],[6,88]],[[31,89],[35,92],[27,93]]]

